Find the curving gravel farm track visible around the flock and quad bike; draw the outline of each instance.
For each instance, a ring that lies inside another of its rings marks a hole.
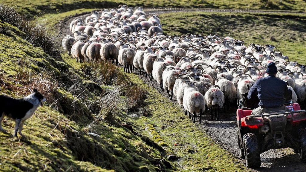
[[[231,12],[231,13],[298,13],[292,11],[284,10],[234,10],[234,9],[145,9],[147,15],[150,14],[161,14],[161,13],[178,13],[178,12]],[[76,18],[87,17],[88,13],[82,13],[77,16],[69,16],[60,21],[57,24],[59,30],[62,30],[62,34],[65,36],[71,34],[69,31],[69,24],[72,20]],[[133,71],[138,74],[138,70]],[[140,76],[142,80],[150,87],[158,90],[160,94],[168,97],[166,92],[161,92],[159,90],[159,84],[155,80],[148,80],[144,76]],[[171,100],[169,100],[171,101]],[[172,103],[177,103],[174,97]],[[221,113],[220,121],[211,121],[209,112],[206,112],[202,117],[202,124],[199,124],[198,118],[196,125],[207,133],[211,138],[218,143],[223,149],[230,152],[235,158],[239,160],[242,164],[244,159],[239,158],[239,151],[237,148],[237,122],[236,122],[236,109],[234,106],[226,113]],[[183,110],[183,109],[182,109]],[[298,154],[294,154],[293,150],[290,148],[270,150],[261,154],[262,165],[258,169],[250,169],[251,171],[278,171],[278,172],[288,172],[288,171],[305,171],[306,164],[301,163]]]

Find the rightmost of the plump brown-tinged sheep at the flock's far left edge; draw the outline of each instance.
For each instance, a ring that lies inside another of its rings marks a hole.
[[[113,63],[118,63],[118,49],[113,43],[105,43],[101,46],[100,56],[103,61],[111,60]]]

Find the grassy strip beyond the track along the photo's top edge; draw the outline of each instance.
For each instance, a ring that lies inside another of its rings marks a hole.
[[[35,16],[38,13],[63,13],[81,8],[110,8],[119,4],[146,8],[221,8],[221,9],[281,9],[305,11],[303,0],[1,0],[0,3],[16,5],[20,12]]]

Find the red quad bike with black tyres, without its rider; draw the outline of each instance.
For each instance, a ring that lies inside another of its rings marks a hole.
[[[260,154],[270,149],[293,148],[306,162],[306,113],[298,103],[286,103],[288,110],[251,115],[247,107],[237,110],[237,140],[240,157],[248,167],[261,164]]]

